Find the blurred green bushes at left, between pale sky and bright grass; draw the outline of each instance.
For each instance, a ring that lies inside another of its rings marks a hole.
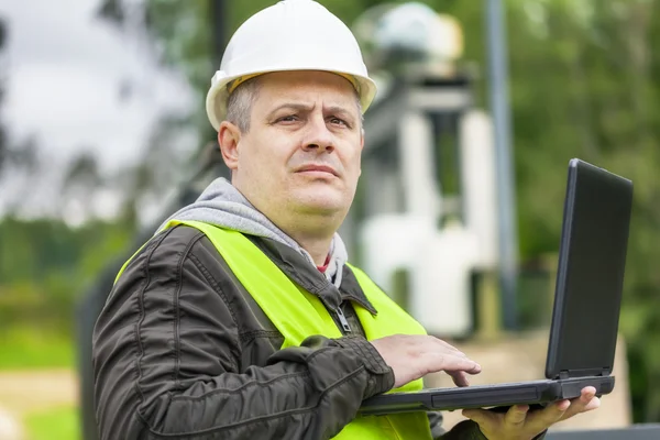
[[[80,294],[125,250],[131,232],[120,222],[73,229],[53,219],[0,221],[0,337],[37,323],[52,336],[70,338]]]

